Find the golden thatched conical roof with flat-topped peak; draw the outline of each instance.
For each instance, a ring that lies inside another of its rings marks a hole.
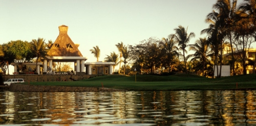
[[[50,45],[48,56],[50,57],[82,57],[78,46],[74,44],[68,35],[68,26],[59,26],[59,36],[53,44]]]

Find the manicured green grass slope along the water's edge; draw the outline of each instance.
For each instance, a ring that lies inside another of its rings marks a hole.
[[[25,83],[28,84],[28,83]],[[256,74],[208,79],[190,74],[160,75],[103,75],[74,82],[30,82],[31,85],[103,87],[125,90],[228,90],[256,89]],[[238,85],[238,88],[237,88]]]

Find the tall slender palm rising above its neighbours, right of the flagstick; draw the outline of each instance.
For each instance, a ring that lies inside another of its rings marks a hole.
[[[189,40],[192,37],[195,37],[195,33],[190,32],[189,34],[187,34],[187,29],[185,29],[182,26],[175,28],[174,31],[175,31],[175,39],[178,42],[179,49],[182,50],[182,52],[183,52],[185,72],[187,74],[186,57],[185,57],[185,53],[187,52],[186,47],[187,47],[187,43],[189,43]],[[169,35],[169,36],[172,36],[172,35]]]

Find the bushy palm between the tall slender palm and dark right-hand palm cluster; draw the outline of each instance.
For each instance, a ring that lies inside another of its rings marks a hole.
[[[201,62],[202,66],[202,72],[204,77],[204,68],[205,64],[207,62],[207,59],[212,56],[209,42],[206,40],[206,38],[199,38],[199,40],[196,41],[195,44],[190,44],[189,51],[195,51],[195,54],[188,55],[188,58],[192,58],[191,60],[199,60]]]

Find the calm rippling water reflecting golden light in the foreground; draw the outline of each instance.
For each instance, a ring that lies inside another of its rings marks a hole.
[[[2,125],[256,125],[256,90],[0,92]]]

